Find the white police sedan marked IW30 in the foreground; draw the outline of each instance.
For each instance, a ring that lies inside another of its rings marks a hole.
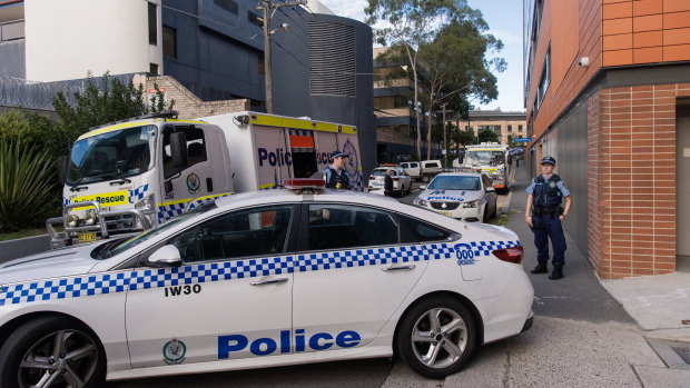
[[[507,229],[385,197],[223,198],[129,240],[2,265],[0,386],[98,387],[394,351],[440,378],[476,346],[531,326],[521,260]]]

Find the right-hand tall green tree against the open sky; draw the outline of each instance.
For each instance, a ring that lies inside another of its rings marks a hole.
[[[485,33],[489,29],[481,12],[469,7],[460,8],[455,18],[444,26],[433,41],[420,47],[420,58],[426,70],[425,84],[428,109],[456,96],[467,96],[486,103],[499,96],[496,78],[492,70],[504,71],[505,60],[487,60],[486,52],[500,51],[501,40]],[[461,108],[469,103],[459,103]],[[431,127],[432,117],[428,117]],[[431,150],[431,133],[427,135]]]

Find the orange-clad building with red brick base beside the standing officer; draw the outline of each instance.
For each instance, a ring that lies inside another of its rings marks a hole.
[[[529,0],[525,106],[573,193],[565,227],[601,278],[690,256],[690,1]]]

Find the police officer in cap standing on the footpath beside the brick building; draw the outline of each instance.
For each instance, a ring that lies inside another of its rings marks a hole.
[[[544,157],[541,161],[542,175],[532,179],[526,191],[528,206],[525,221],[534,231],[534,245],[536,246],[536,260],[539,265],[532,273],[546,273],[549,269],[549,239],[553,246],[553,271],[549,279],[563,278],[563,265],[565,265],[565,236],[561,222],[568,217],[572,199],[565,182],[561,177],[553,173],[555,159]],[[565,201],[565,208],[561,203]]]

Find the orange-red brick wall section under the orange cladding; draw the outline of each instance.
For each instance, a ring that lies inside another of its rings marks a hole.
[[[588,101],[590,260],[603,279],[676,271],[676,99],[690,83]]]

